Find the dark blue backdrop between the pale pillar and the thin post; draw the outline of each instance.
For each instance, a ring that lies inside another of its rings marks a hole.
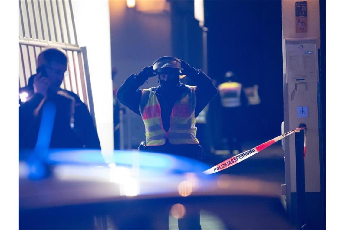
[[[261,104],[242,120],[246,138],[275,137],[283,121],[282,2],[205,1],[208,73],[234,71],[245,87],[258,84]]]

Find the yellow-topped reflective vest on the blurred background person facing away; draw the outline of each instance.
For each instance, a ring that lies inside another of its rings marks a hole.
[[[218,86],[221,104],[224,107],[241,105],[242,84],[238,82],[224,82]]]

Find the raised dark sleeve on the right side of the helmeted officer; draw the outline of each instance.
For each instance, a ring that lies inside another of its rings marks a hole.
[[[212,100],[218,93],[218,89],[212,80],[200,69],[192,70],[187,75],[196,84],[196,108],[195,116],[197,117],[201,110]]]

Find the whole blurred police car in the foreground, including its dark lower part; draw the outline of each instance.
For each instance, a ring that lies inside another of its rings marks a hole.
[[[206,175],[209,165],[184,157],[111,153],[106,164],[98,150],[51,150],[51,176],[30,180],[21,151],[19,228],[176,229],[191,210],[201,210],[203,229],[294,228],[274,183]]]

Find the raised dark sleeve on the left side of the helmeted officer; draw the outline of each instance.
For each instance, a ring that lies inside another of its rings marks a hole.
[[[140,115],[139,104],[141,99],[141,90],[138,88],[144,84],[148,79],[147,76],[143,74],[132,74],[127,78],[127,80],[121,85],[117,91],[117,99],[128,107],[133,112]]]

